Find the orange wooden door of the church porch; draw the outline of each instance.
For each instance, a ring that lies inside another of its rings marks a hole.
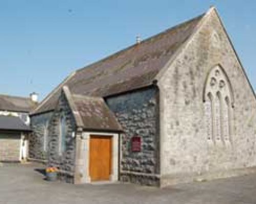
[[[110,180],[112,171],[112,137],[90,137],[90,177],[91,181]]]

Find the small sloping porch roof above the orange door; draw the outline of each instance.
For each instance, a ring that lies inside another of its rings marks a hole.
[[[122,131],[121,125],[103,98],[71,94],[67,86],[62,89],[77,126],[86,130]]]

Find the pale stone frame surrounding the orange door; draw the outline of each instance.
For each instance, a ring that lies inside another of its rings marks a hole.
[[[117,133],[101,133],[101,132],[83,132],[80,142],[79,154],[79,183],[91,183],[90,177],[90,139],[91,136],[107,136],[112,137],[112,172],[110,175],[110,182],[118,181],[118,159],[119,159],[119,135]]]

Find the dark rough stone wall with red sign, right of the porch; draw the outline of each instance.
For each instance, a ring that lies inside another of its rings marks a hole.
[[[121,135],[120,179],[159,185],[158,90],[150,88],[106,99],[125,134]],[[131,138],[141,137],[141,151],[133,152]]]

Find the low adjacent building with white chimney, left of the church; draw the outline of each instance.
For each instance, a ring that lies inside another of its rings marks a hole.
[[[20,162],[28,158],[29,112],[37,105],[31,97],[0,95],[0,162]]]

